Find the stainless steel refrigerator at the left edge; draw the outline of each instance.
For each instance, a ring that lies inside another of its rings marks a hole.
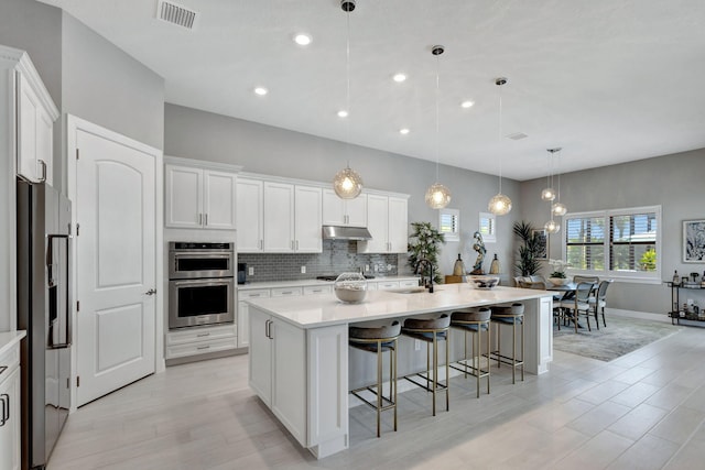
[[[18,179],[22,469],[44,469],[70,405],[70,201]]]

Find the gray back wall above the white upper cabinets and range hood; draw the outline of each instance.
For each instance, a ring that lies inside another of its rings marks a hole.
[[[243,171],[275,176],[290,176],[329,182],[345,166],[344,142],[272,128],[254,122],[198,111],[176,105],[164,107],[164,154],[242,165]],[[373,149],[355,146],[350,166],[364,178],[368,188],[410,194],[409,221],[431,221],[437,226],[438,211],[424,203],[426,188],[434,183],[435,164]],[[452,274],[457,253],[467,266],[475,262],[473,232],[478,228],[478,212],[487,211],[487,203],[497,193],[498,179],[481,173],[441,166],[441,183],[453,192],[449,208],[460,210],[460,242],[443,248],[441,270]],[[498,218],[498,242],[487,243],[485,270],[497,253],[505,271],[512,254],[511,226],[519,219],[519,184],[505,181],[502,190],[514,203],[506,217]],[[402,266],[400,271],[403,272]]]

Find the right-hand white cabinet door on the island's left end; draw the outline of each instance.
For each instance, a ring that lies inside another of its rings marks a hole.
[[[304,447],[306,445],[305,331],[274,320],[272,336],[272,413]]]

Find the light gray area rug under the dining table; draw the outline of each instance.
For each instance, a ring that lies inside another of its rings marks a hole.
[[[561,331],[558,331],[554,326],[553,348],[605,362],[615,360],[679,330],[671,324],[630,317],[607,316],[607,328],[600,323],[599,330],[595,328],[595,320],[592,318],[593,331],[587,330],[585,318],[581,318],[581,324],[585,328],[578,329],[577,334],[571,327],[561,325]]]

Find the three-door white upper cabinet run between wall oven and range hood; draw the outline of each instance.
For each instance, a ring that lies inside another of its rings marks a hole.
[[[238,178],[240,253],[321,253],[322,188]]]

